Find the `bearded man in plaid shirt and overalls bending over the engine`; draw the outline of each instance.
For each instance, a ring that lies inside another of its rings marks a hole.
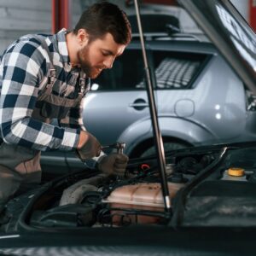
[[[125,13],[102,2],[85,10],[73,31],[26,35],[4,51],[0,211],[21,183],[40,182],[41,151],[76,150],[81,160],[95,160],[100,171],[124,174],[128,157],[102,153],[96,137],[85,131],[82,107],[90,79],[111,68],[130,41]],[[51,119],[59,125],[51,125]]]

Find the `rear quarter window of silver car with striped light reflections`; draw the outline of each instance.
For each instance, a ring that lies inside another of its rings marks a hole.
[[[153,62],[158,89],[189,89],[207,55],[155,50]],[[141,84],[143,87],[143,84]]]

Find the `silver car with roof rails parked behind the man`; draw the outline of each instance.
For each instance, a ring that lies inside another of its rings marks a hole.
[[[150,37],[148,60],[166,150],[256,139],[253,95],[207,38]],[[84,125],[102,145],[126,143],[125,154],[154,153],[143,56],[136,38],[91,83]],[[44,153],[42,166],[84,168],[72,153]]]

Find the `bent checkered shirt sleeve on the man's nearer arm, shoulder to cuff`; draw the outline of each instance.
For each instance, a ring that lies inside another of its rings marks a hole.
[[[6,143],[38,149],[71,150],[79,129],[49,125],[32,118],[38,86],[45,79],[48,55],[35,41],[18,41],[4,53],[0,66],[0,128]]]

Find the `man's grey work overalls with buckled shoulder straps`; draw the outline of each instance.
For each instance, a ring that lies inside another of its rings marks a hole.
[[[77,98],[68,99],[65,96],[53,95],[52,87],[57,82],[53,60],[44,38],[39,36],[36,38],[40,40],[43,48],[48,52],[50,69],[48,82],[38,95],[37,102],[40,102],[40,108],[34,108],[32,118],[49,123],[51,119],[65,118],[70,108],[78,106],[89,88],[88,86],[85,88],[85,75],[81,72],[79,75],[79,94]],[[61,83],[60,81],[58,82]],[[0,212],[10,196],[14,195],[17,189],[20,188],[20,183],[40,183],[40,153],[40,151],[32,148],[2,142],[0,145]]]

